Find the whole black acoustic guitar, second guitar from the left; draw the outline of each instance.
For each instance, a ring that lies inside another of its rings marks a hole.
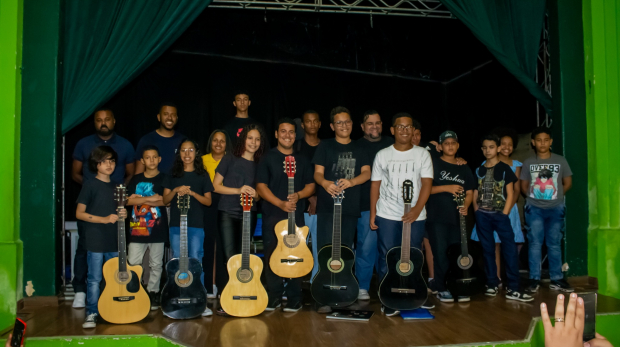
[[[202,264],[188,256],[187,212],[190,196],[177,196],[181,212],[180,251],[181,257],[166,264],[167,280],[161,291],[161,310],[167,317],[190,319],[198,317],[207,308],[207,291],[200,282]]]

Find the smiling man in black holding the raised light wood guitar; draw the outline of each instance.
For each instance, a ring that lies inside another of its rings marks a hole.
[[[275,226],[286,220],[289,213],[294,214],[295,224],[304,225],[303,209],[305,199],[314,193],[313,170],[308,159],[293,153],[295,142],[295,122],[283,118],[278,122],[276,139],[278,146],[265,154],[258,164],[256,172],[256,190],[263,201],[263,251],[265,253],[265,279],[269,302],[266,311],[273,311],[281,306],[284,292],[283,278],[274,274],[269,267],[269,260],[278,245]],[[295,175],[293,176],[293,194],[288,193],[288,176],[284,170],[287,156],[295,158]],[[285,312],[297,312],[302,307],[301,278],[287,279],[286,295],[288,304]]]

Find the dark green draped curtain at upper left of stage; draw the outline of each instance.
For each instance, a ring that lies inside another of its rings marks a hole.
[[[67,0],[63,134],[138,76],[211,0]]]

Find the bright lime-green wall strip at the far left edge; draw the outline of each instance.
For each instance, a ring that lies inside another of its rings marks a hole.
[[[22,0],[0,1],[0,332],[13,324],[22,296],[18,218],[22,7]]]

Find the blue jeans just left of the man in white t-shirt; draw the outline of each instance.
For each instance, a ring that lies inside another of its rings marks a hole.
[[[370,211],[363,211],[357,220],[357,245],[355,246],[355,277],[361,289],[370,289],[372,269],[377,264],[377,231],[370,229]]]

